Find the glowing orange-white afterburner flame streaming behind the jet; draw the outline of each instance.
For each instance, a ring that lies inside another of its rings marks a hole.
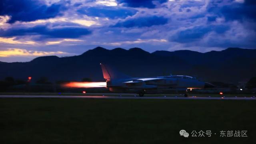
[[[101,88],[106,87],[106,82],[69,82],[62,86],[67,88]]]

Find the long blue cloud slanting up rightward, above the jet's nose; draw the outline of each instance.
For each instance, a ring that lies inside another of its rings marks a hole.
[[[229,30],[229,26],[219,25],[219,26],[196,26],[194,28],[186,29],[180,32],[177,32],[175,35],[169,38],[170,41],[174,42],[194,42],[203,38],[204,35],[209,32],[216,32],[218,34],[223,34],[227,30]]]

